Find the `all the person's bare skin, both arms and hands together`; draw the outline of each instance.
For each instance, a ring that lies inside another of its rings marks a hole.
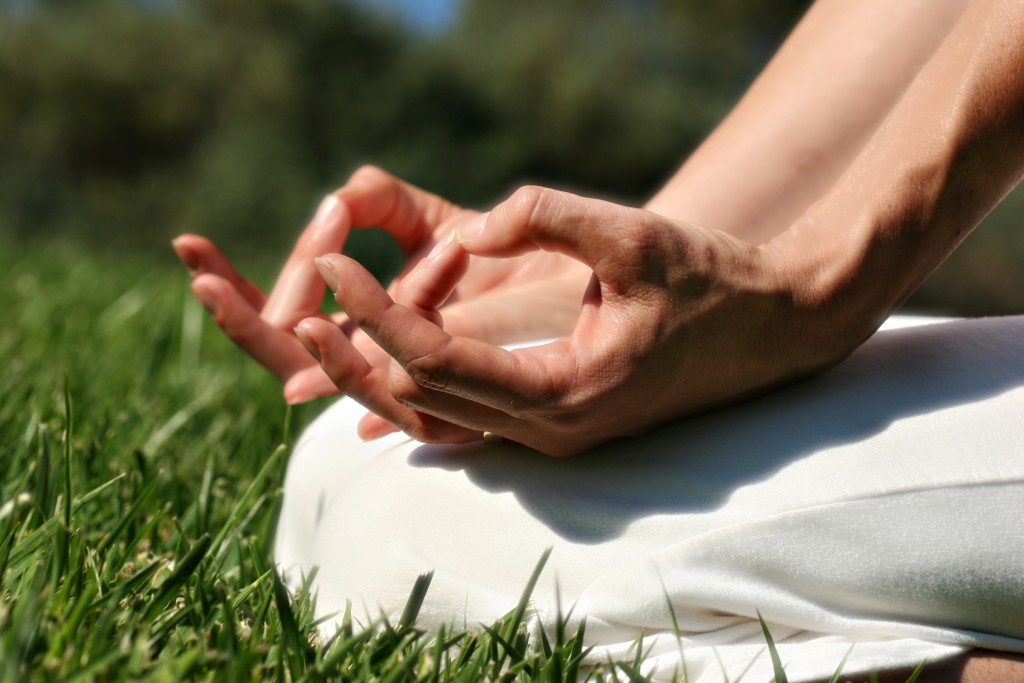
[[[573,455],[820,372],[869,336],[1020,180],[1022,35],[1010,0],[822,0],[644,209],[524,187],[478,215],[369,168],[269,297],[202,238],[175,248],[290,400],[344,391],[372,411],[364,437],[485,430]],[[387,290],[337,253],[373,224],[409,256]],[[318,310],[317,271],[348,318]],[[1024,679],[989,653],[944,671]]]

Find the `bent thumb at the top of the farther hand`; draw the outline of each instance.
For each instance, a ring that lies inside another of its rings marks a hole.
[[[420,249],[433,237],[435,228],[462,212],[440,197],[375,166],[357,170],[337,195],[348,207],[353,226],[380,227],[407,254]]]

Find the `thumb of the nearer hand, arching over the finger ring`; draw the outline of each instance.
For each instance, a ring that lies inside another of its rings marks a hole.
[[[583,261],[607,285],[623,288],[644,253],[659,249],[666,219],[641,209],[545,187],[522,187],[489,213],[459,226],[463,248],[480,256],[543,249]]]

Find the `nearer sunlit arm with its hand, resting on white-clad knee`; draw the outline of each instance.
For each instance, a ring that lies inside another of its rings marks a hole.
[[[572,335],[554,344],[453,337],[424,316],[454,286],[442,274],[424,279],[445,284],[430,297],[410,293],[411,309],[327,259],[349,283],[338,301],[398,364],[394,399],[378,385],[372,408],[425,440],[487,430],[570,455],[838,362],[1019,181],[1022,36],[1018,0],[973,2],[827,191],[767,245],[543,188],[462,225],[471,254],[541,249],[593,269]],[[302,326],[322,355],[345,354],[329,326]]]

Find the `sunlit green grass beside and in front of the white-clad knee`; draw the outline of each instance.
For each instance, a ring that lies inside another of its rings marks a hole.
[[[0,681],[579,680],[585,626],[527,637],[532,584],[495,625],[424,633],[423,577],[397,624],[346,614],[322,643],[271,548],[288,441],[324,403],[287,411],[169,250],[0,239]],[[584,673],[644,680],[641,650]]]

